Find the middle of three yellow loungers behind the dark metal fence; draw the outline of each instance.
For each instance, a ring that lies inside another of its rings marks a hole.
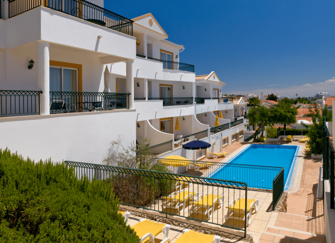
[[[206,194],[204,197],[200,195],[196,201],[190,202],[190,204],[193,204],[190,212],[201,214],[203,219],[210,219],[214,211],[222,207],[223,201],[223,195]]]

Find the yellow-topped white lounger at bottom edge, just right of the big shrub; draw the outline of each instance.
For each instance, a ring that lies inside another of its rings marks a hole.
[[[164,238],[169,236],[170,227],[171,225],[168,224],[160,224],[147,219],[141,219],[140,222],[131,228],[140,238],[140,242],[146,242],[149,240],[150,243],[155,243],[154,238],[159,233],[164,232]]]

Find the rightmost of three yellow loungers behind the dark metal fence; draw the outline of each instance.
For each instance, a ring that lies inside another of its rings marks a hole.
[[[232,206],[232,204],[234,205]],[[258,211],[258,199],[247,199],[247,210],[245,209],[246,199],[238,198],[238,200],[233,200],[230,202],[227,215],[224,216],[227,221],[229,218],[231,219],[239,219],[245,220],[245,214],[247,213],[247,225],[251,223],[251,214],[254,210],[255,213]]]

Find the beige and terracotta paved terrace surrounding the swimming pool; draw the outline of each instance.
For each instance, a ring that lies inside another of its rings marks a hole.
[[[283,141],[271,142],[271,144],[283,144]],[[235,156],[241,152],[250,143],[236,142],[224,149],[224,152],[229,153],[227,158],[205,159],[204,161],[226,162],[231,156]],[[264,143],[266,144],[266,143]],[[292,142],[290,145],[300,146],[300,162],[295,173],[296,181],[294,188],[288,192],[287,198],[287,213],[278,213],[272,211],[272,193],[264,191],[248,190],[249,199],[258,199],[259,208],[256,214],[252,215],[251,224],[247,227],[247,234],[252,234],[254,242],[260,243],[302,243],[302,242],[325,242],[324,234],[324,219],[323,219],[323,199],[317,198],[317,183],[319,175],[319,167],[321,159],[312,159],[306,157],[304,152],[305,145],[298,142]],[[205,174],[205,171],[202,171]],[[192,186],[191,186],[192,187]],[[206,188],[198,188],[200,192],[205,192]],[[214,193],[218,193],[215,191]],[[228,189],[227,189],[228,190]],[[211,193],[212,191],[208,191]],[[219,193],[222,193],[219,191]],[[234,195],[229,192],[229,200]],[[241,196],[244,196],[241,191]],[[228,192],[225,191],[226,195]],[[239,197],[240,195],[236,196]],[[216,210],[213,215],[215,223],[224,223],[224,215],[227,213],[228,199],[225,198],[223,207]],[[156,205],[161,209],[161,205]],[[182,215],[188,216],[191,206],[187,207]],[[178,217],[178,216],[174,216]],[[196,218],[196,216],[194,216]],[[179,218],[179,217],[178,217]],[[133,226],[140,218],[130,216],[128,224]],[[211,221],[210,220],[210,221]],[[231,225],[233,222],[229,222]],[[243,221],[235,220],[235,226],[244,225]],[[203,223],[208,224],[208,223]],[[222,227],[221,227],[222,228]],[[226,228],[223,228],[223,231]],[[287,229],[287,231],[283,230]],[[183,228],[171,226],[169,238],[175,242],[182,234]],[[263,233],[262,233],[263,232]],[[159,234],[156,243],[164,238],[163,233]],[[298,240],[299,239],[299,240]],[[236,242],[228,238],[221,238],[221,242]]]

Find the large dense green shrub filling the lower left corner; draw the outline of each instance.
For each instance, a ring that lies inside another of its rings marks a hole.
[[[72,168],[0,149],[0,238],[5,242],[139,242],[112,185]]]

